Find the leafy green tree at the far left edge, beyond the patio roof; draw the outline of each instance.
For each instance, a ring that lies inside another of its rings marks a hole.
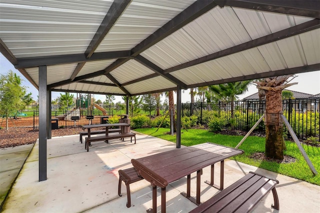
[[[8,130],[8,117],[24,106],[22,97],[26,87],[21,86],[21,82],[20,77],[12,70],[0,75],[0,114],[6,117],[6,130]]]

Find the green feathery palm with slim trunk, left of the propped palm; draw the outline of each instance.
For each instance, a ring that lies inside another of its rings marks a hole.
[[[250,85],[251,80],[244,80],[238,82],[230,82],[230,83],[223,83],[218,85],[211,85],[209,86],[209,90],[217,94],[218,97],[224,98],[231,102],[231,128],[234,128],[233,119],[234,119],[234,101],[238,98],[237,95],[244,93],[248,90],[248,86]]]

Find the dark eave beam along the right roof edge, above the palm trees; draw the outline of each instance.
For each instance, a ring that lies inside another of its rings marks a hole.
[[[280,69],[275,71],[255,73],[250,75],[241,75],[238,77],[212,80],[212,81],[203,82],[203,83],[195,83],[195,84],[189,85],[188,87],[192,88],[192,87],[199,87],[199,86],[206,86],[206,85],[215,85],[215,84],[221,84],[221,83],[229,83],[229,82],[236,82],[236,81],[242,81],[242,80],[252,80],[252,79],[259,79],[259,78],[273,77],[273,76],[280,76],[280,75],[287,75],[287,74],[296,74],[296,73],[310,72],[310,71],[317,71],[317,70],[320,70],[320,63],[293,67],[293,68]]]

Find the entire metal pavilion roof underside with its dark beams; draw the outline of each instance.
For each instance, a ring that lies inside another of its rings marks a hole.
[[[320,1],[1,0],[1,53],[36,87],[137,95],[320,70]]]

